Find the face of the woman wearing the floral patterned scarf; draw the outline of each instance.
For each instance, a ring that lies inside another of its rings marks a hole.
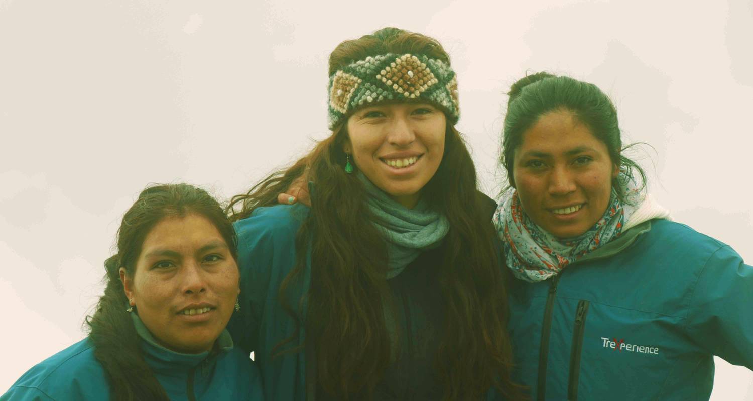
[[[581,235],[602,217],[620,172],[606,145],[567,109],[526,130],[513,165],[523,210],[559,238]]]

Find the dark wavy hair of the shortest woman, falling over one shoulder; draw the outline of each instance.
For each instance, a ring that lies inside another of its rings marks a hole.
[[[105,260],[105,294],[93,316],[87,316],[94,357],[105,368],[110,399],[115,401],[169,401],[165,390],[146,364],[139,335],[126,311],[128,299],[120,281],[120,267],[133,278],[136,260],[146,235],[169,216],[200,214],[211,221],[236,258],[236,234],[218,202],[204,190],[188,184],[148,187],[126,211],[117,230],[117,254]],[[136,312],[133,312],[136,313]]]

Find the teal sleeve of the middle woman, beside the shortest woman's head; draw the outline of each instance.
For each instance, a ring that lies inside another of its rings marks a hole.
[[[278,205],[236,222],[240,310],[233,312],[227,330],[246,355],[258,351],[264,311],[277,302],[279,284],[295,261],[295,233],[300,222]],[[263,336],[264,334],[262,334]]]

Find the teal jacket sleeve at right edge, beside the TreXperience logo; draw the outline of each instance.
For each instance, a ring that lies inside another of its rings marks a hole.
[[[687,332],[702,348],[753,369],[753,266],[732,248],[718,248],[700,272]]]

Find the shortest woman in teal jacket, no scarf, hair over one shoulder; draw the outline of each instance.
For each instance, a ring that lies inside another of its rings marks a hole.
[[[237,308],[236,234],[217,201],[186,184],[144,190],[87,339],[32,367],[2,401],[262,399],[225,326]]]

